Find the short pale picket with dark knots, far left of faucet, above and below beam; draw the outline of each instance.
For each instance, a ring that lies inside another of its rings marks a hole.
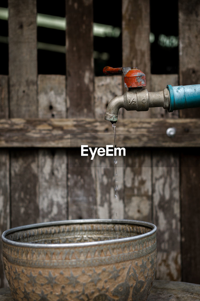
[[[39,117],[65,118],[65,76],[38,76]],[[67,219],[67,156],[65,149],[38,152],[39,222]]]

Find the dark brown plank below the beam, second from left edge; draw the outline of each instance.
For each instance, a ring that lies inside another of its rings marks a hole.
[[[11,152],[11,227],[38,220],[38,160],[33,151]]]

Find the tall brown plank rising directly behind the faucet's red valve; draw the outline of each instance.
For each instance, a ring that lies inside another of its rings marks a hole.
[[[122,1],[123,67],[138,67],[150,88],[150,4],[149,0]],[[124,111],[125,118],[147,118],[150,112]]]

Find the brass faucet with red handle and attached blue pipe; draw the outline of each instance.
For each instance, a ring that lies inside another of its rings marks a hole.
[[[148,92],[146,76],[138,68],[104,67],[105,75],[124,74],[124,87],[128,88],[123,95],[116,96],[108,104],[105,119],[116,123],[120,108],[127,111],[148,111],[150,107],[163,107],[168,112],[186,108],[200,107],[200,85],[171,86],[167,85],[160,92]]]

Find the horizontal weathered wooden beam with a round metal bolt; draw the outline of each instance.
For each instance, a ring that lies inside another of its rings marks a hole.
[[[174,137],[166,130],[176,129]],[[199,147],[200,119],[119,119],[118,147]],[[96,119],[0,119],[0,147],[105,147],[111,123]]]

